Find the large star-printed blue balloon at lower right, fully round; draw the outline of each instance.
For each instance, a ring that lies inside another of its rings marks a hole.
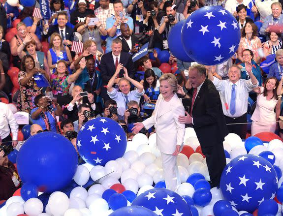
[[[278,178],[275,169],[261,156],[240,155],[224,168],[220,188],[238,211],[253,212],[265,199],[273,199]]]

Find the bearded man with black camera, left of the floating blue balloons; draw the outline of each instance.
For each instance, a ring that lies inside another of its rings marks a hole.
[[[165,31],[165,36],[168,38],[171,28],[180,20],[185,20],[185,17],[182,13],[176,12],[175,4],[166,7],[166,15],[167,16],[164,16],[160,22],[158,32],[161,34]]]

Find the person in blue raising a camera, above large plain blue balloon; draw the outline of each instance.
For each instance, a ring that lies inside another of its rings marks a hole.
[[[51,100],[44,94],[38,94],[34,98],[36,108],[31,110],[33,123],[39,124],[42,129],[61,133],[56,116],[62,116],[63,111],[56,100]]]

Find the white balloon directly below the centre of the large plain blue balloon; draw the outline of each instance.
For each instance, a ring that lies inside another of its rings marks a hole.
[[[48,200],[48,205],[52,215],[63,215],[69,208],[70,200],[66,194],[61,191],[53,192]]]

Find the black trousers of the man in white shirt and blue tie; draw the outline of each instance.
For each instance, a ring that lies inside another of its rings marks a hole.
[[[243,116],[240,116],[238,118],[231,118],[225,116],[225,121],[228,124],[227,128],[229,133],[236,133],[241,137],[241,139],[246,139],[247,129],[248,129],[247,113],[245,113]],[[244,124],[237,124],[237,123],[244,123]]]

